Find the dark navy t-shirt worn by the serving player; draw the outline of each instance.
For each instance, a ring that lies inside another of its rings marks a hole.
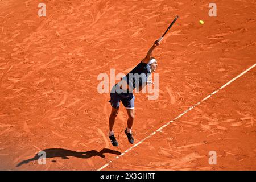
[[[141,62],[122,79],[127,81],[130,88],[135,89],[139,86],[146,85],[147,78],[150,74],[150,65]]]

